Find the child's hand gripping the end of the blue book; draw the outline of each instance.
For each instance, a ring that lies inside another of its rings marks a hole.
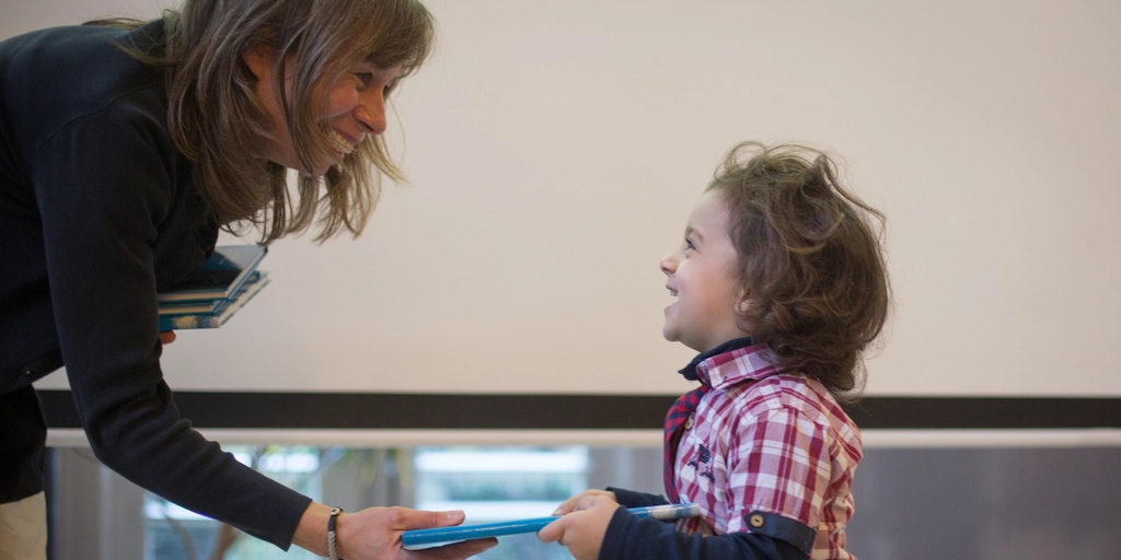
[[[599,494],[589,495],[591,492]],[[545,525],[537,532],[541,542],[556,541],[566,547],[576,560],[596,560],[603,545],[603,535],[608,532],[611,516],[620,506],[610,492],[587,491],[576,501],[575,511]],[[571,498],[571,500],[574,500]],[[569,500],[569,501],[571,501]],[[567,505],[566,501],[562,507]]]

